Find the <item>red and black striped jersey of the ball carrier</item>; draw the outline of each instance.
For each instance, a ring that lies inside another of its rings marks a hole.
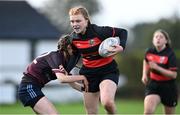
[[[89,24],[85,34],[72,34],[73,45],[82,54],[83,67],[100,68],[113,62],[113,57],[101,57],[98,48],[101,42],[109,37],[119,37],[120,45],[125,48],[127,31],[122,28],[97,26]]]

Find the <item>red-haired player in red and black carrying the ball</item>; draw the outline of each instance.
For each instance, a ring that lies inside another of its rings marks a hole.
[[[69,10],[70,24],[73,28],[72,43],[82,55],[83,65],[80,74],[89,81],[89,91],[84,92],[84,104],[88,114],[97,114],[99,99],[108,114],[116,113],[114,102],[119,80],[119,70],[113,56],[122,52],[126,45],[127,30],[91,24],[89,14],[83,6]],[[109,57],[101,57],[98,48],[109,37],[119,37]]]

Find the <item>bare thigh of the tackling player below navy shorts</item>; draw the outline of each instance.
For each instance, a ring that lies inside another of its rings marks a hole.
[[[46,98],[42,97],[33,108],[36,114],[53,114],[57,115],[54,105]]]

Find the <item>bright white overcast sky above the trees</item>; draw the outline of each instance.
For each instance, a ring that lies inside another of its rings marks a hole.
[[[40,7],[48,0],[28,0]],[[93,22],[109,26],[133,26],[139,22],[154,22],[178,13],[180,0],[98,0],[102,9]]]

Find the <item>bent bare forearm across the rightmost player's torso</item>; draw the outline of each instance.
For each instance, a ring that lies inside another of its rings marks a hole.
[[[151,69],[159,71],[164,76],[167,76],[167,77],[170,77],[170,78],[173,78],[173,79],[175,79],[177,77],[177,72],[176,71],[172,71],[172,70],[169,70],[169,69],[162,68],[161,66],[159,66],[155,62],[149,62],[149,67]]]

